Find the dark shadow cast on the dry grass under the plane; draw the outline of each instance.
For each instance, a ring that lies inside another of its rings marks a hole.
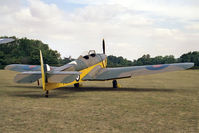
[[[41,87],[34,87],[34,86],[10,86],[10,87],[18,87],[18,88],[31,88],[35,89],[38,88],[40,89]],[[16,97],[28,97],[28,98],[45,98],[45,94],[41,94],[40,91],[35,90],[35,91],[13,91],[10,92],[11,96],[16,96]],[[84,96],[75,96],[75,95],[70,95],[72,93],[76,92],[102,92],[102,91],[112,91],[112,92],[163,92],[163,93],[172,93],[176,91],[183,91],[181,89],[154,89],[154,88],[110,88],[110,87],[80,87],[80,88],[73,88],[73,87],[62,87],[59,89],[56,89],[55,91],[51,91],[49,98],[78,98],[78,97],[84,97]],[[68,95],[67,95],[68,94]]]

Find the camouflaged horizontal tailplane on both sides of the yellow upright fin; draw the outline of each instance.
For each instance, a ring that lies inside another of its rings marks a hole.
[[[70,72],[49,72],[47,81],[50,83],[70,83],[74,81],[81,73],[76,71]],[[33,83],[41,78],[41,71],[27,71],[16,75],[17,83]]]

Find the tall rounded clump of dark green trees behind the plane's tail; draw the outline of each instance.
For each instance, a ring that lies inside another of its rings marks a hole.
[[[15,39],[14,42],[0,45],[0,68],[8,64],[40,64],[39,50],[42,50],[44,62],[50,65],[59,65],[61,55],[58,51],[49,48],[40,40],[27,38]]]

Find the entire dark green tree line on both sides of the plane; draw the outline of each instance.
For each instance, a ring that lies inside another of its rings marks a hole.
[[[0,45],[0,68],[8,64],[32,64],[39,65],[40,57],[39,50],[42,50],[43,59],[46,64],[51,66],[61,66],[70,61],[72,58],[61,58],[58,51],[49,48],[48,44],[44,44],[40,40],[32,40],[27,38],[18,39],[12,37],[16,41]],[[127,60],[121,56],[108,56],[108,67],[123,67],[123,66],[140,66],[154,65],[166,63],[194,62],[195,68],[199,68],[199,51],[188,52],[175,58],[173,55],[151,57],[145,54],[137,60]]]

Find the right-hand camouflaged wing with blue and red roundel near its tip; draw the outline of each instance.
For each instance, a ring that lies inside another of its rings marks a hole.
[[[175,64],[161,64],[161,65],[146,65],[146,66],[132,66],[132,67],[118,67],[118,68],[101,68],[96,69],[95,72],[88,73],[83,80],[112,80],[129,78],[131,76],[140,76],[155,74],[169,71],[179,71],[191,68],[194,63],[175,63]]]

